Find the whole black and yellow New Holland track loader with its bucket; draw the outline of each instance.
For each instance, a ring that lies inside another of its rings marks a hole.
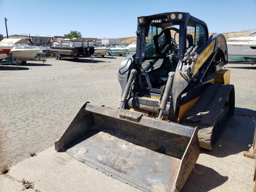
[[[143,191],[179,192],[234,114],[226,40],[188,13],[138,17],[119,109],[86,102],[57,151]]]

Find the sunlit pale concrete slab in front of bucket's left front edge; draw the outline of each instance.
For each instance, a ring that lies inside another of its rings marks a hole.
[[[56,152],[54,146],[14,165],[8,175],[18,180],[25,178],[33,181],[35,188],[42,192],[140,191],[84,165],[64,152]]]

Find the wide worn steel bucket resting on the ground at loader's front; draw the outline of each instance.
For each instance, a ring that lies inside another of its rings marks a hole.
[[[199,156],[197,132],[198,127],[87,102],[55,149],[140,190],[179,192]]]

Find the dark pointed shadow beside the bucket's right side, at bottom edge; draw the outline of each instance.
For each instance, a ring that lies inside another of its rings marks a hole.
[[[181,192],[208,192],[227,180],[228,176],[222,176],[212,168],[196,164]]]

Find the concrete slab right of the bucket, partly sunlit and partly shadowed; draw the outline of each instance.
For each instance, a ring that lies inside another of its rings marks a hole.
[[[253,191],[254,159],[243,151],[252,151],[255,120],[235,115],[214,150],[201,149],[182,192]]]

